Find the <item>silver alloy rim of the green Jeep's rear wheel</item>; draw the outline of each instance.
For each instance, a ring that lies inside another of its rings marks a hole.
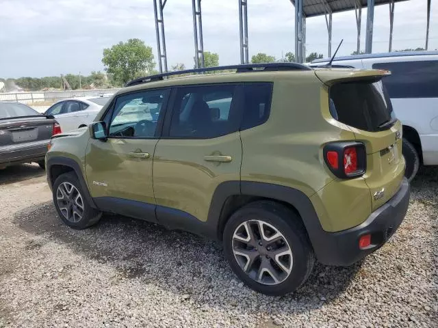
[[[234,231],[232,249],[240,268],[260,284],[281,284],[292,271],[294,260],[289,243],[265,221],[241,223]]]

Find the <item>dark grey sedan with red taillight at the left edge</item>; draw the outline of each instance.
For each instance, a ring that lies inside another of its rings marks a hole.
[[[49,139],[61,133],[53,116],[19,102],[0,101],[0,169],[36,162],[44,169]]]

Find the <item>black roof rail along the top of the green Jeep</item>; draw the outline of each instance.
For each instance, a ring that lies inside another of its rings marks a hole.
[[[275,70],[312,70],[309,66],[296,63],[266,63],[266,64],[242,64],[229,66],[216,66],[205,68],[193,68],[192,70],[176,70],[175,72],[166,72],[161,74],[151,75],[149,77],[140,77],[126,83],[125,87],[131,85],[138,85],[147,82],[162,81],[166,77],[172,75],[188,74],[188,73],[203,73],[211,72],[213,70],[236,70],[237,73],[253,72],[253,71],[275,71]]]

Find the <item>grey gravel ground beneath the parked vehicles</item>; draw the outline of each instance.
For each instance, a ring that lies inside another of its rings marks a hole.
[[[36,165],[0,171],[0,327],[438,327],[438,168],[389,243],[317,264],[285,297],[243,286],[220,245],[116,216],[62,225]]]

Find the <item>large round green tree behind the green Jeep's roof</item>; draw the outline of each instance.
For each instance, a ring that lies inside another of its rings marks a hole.
[[[149,74],[155,68],[151,46],[140,39],[119,42],[111,48],[103,49],[105,70],[114,74],[117,83],[125,84],[136,77]]]

